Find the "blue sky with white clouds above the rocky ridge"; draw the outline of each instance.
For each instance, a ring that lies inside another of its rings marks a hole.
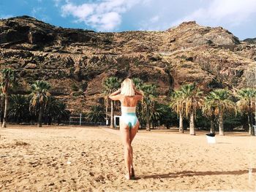
[[[256,37],[256,0],[0,0],[0,18],[21,15],[94,31],[165,31],[195,20]]]

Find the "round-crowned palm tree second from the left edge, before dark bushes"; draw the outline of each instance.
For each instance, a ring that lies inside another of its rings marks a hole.
[[[45,105],[47,104],[47,99],[50,96],[49,93],[50,85],[48,82],[44,81],[36,81],[34,84],[31,85],[31,107],[38,107],[39,108],[39,115],[38,115],[38,127],[42,127],[42,112],[44,110]]]

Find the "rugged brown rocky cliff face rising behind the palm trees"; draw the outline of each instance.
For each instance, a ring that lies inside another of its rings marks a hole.
[[[69,110],[103,103],[102,82],[116,76],[156,83],[162,101],[187,82],[205,91],[242,87],[256,66],[256,45],[222,27],[185,22],[167,31],[97,33],[51,26],[28,16],[0,20],[0,68],[15,69],[20,88],[50,82]]]

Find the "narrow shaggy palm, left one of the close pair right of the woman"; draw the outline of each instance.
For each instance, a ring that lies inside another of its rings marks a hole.
[[[179,117],[179,132],[184,133],[183,117],[184,117],[184,102],[181,91],[174,91],[170,96],[170,107],[178,114]]]

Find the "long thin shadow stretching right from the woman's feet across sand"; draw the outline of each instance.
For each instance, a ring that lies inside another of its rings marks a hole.
[[[252,172],[256,172],[256,169],[252,169]],[[176,172],[167,174],[151,174],[146,176],[138,176],[136,179],[149,179],[149,178],[176,178],[176,177],[193,177],[193,176],[206,176],[206,175],[221,175],[221,174],[247,174],[249,170],[237,170],[237,171],[227,171],[227,172]]]

